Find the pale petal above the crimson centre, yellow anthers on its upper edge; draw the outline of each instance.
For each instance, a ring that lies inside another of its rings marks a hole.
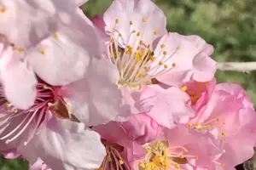
[[[28,52],[32,69],[51,85],[79,80],[88,68],[90,57],[102,53],[96,31],[89,20],[76,14],[72,23],[61,26],[55,35]]]

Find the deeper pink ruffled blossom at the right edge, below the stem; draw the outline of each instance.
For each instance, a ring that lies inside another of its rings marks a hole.
[[[246,92],[237,84],[219,83],[207,105],[188,125],[198,132],[212,133],[222,144],[216,165],[232,169],[253,156],[255,120],[253,103]]]

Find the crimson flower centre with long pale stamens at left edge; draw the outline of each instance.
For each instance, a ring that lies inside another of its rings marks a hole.
[[[38,128],[45,124],[49,118],[54,115],[59,118],[69,118],[65,101],[57,94],[57,87],[51,87],[45,83],[38,83],[37,98],[34,105],[27,110],[18,110],[14,105],[10,104],[3,95],[3,87],[0,86],[0,111],[4,113],[4,117],[11,121],[12,119],[19,120],[9,133],[0,136],[0,139],[5,139],[6,144],[20,137],[27,127],[32,127],[32,132],[29,133],[26,142],[38,133]],[[21,118],[20,118],[21,117]],[[21,120],[21,121],[20,121]],[[3,134],[3,133],[2,133]]]

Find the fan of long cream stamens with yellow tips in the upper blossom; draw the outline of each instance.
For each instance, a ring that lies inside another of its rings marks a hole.
[[[177,53],[167,54],[166,45],[160,44],[153,48],[153,42],[158,31],[152,32],[152,40],[144,42],[144,33],[147,30],[147,19],[143,18],[141,26],[134,30],[133,22],[130,21],[130,32],[128,37],[122,37],[118,31],[119,19],[116,19],[111,38],[108,45],[108,56],[119,70],[119,85],[131,89],[138,89],[143,84],[152,84],[151,79],[155,78],[176,66],[176,63],[167,65],[167,61]],[[148,34],[147,34],[148,36]],[[168,37],[168,36],[167,36]],[[166,38],[167,38],[166,37]],[[170,64],[170,62],[168,62]]]

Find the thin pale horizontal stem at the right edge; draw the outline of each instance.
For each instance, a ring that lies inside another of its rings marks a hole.
[[[255,71],[256,62],[219,62],[220,71]]]

